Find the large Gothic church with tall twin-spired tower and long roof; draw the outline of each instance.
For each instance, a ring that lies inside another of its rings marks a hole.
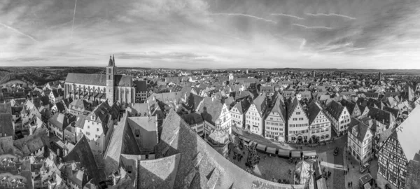
[[[109,57],[106,74],[68,73],[64,83],[64,96],[73,100],[108,104],[132,104],[135,102],[135,87],[132,76],[118,75],[115,58]]]

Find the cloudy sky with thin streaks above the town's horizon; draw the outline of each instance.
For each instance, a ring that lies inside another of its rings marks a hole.
[[[420,0],[1,0],[0,42],[0,66],[420,69]]]

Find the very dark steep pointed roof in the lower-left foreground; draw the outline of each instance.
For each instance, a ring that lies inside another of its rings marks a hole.
[[[76,146],[63,157],[63,160],[64,162],[80,162],[80,164],[87,169],[89,178],[93,179],[96,185],[98,185],[100,181],[106,180],[104,171],[97,166],[92,150],[90,150],[89,143],[84,135],[76,143]]]

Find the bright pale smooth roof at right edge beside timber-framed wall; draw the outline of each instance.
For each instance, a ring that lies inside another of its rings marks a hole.
[[[419,152],[420,147],[420,106],[416,107],[408,116],[408,118],[398,126],[402,131],[398,131],[398,141],[402,151],[404,151],[407,160],[413,160],[414,155]]]

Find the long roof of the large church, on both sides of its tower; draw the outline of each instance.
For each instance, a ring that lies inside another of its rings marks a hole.
[[[116,86],[133,86],[132,76],[115,75],[114,81]],[[68,73],[66,77],[66,83],[106,86],[106,75],[92,73]]]

